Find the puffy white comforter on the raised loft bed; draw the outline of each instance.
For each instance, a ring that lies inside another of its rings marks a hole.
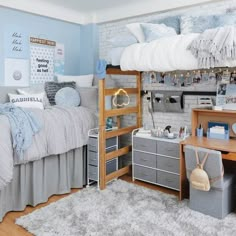
[[[120,67],[122,70],[168,72],[175,70],[196,70],[198,60],[188,46],[199,34],[176,35],[154,40],[150,43],[136,43],[124,49]],[[226,60],[220,67],[235,67],[236,60]]]

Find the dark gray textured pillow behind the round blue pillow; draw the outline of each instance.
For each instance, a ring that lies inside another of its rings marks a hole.
[[[44,89],[51,105],[56,105],[55,95],[57,91],[65,87],[76,89],[76,82],[72,81],[72,82],[62,82],[62,83],[58,82],[45,83]]]

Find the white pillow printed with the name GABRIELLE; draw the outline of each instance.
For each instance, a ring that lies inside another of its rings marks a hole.
[[[30,95],[9,93],[8,96],[10,102],[14,103],[14,105],[18,107],[44,109],[43,106],[44,93],[30,94]]]

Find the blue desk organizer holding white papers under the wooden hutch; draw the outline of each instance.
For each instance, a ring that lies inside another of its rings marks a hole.
[[[229,139],[229,124],[224,122],[208,122],[207,138]]]

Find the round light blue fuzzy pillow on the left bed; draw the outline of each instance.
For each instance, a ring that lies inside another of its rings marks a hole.
[[[55,102],[60,106],[77,107],[80,105],[80,96],[77,90],[65,87],[57,91]]]

